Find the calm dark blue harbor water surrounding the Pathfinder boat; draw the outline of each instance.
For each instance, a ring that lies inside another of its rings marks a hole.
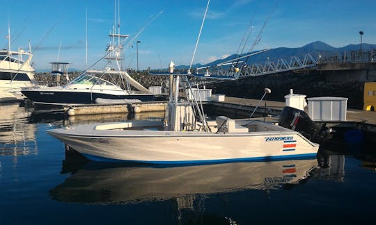
[[[136,117],[158,117],[143,114]],[[334,144],[317,158],[151,167],[89,162],[48,129],[129,115],[36,115],[0,105],[0,224],[370,224],[376,153]]]

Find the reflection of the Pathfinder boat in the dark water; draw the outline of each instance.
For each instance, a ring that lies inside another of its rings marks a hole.
[[[299,184],[315,167],[318,167],[316,159],[182,167],[90,161],[81,169],[70,171],[72,175],[50,190],[50,195],[58,201],[93,204],[172,199],[183,208],[192,208],[194,199],[211,194],[271,190],[287,184]],[[69,170],[63,168],[64,172]]]

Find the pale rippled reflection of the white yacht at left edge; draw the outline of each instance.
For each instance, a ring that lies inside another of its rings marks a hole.
[[[1,104],[0,155],[19,156],[38,153],[36,125],[29,124],[31,111],[19,103]]]

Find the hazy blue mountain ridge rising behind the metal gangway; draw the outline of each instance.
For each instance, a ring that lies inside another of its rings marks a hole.
[[[286,47],[279,47],[276,49],[269,49],[268,51],[265,51],[263,53],[258,53],[257,55],[251,56],[248,60],[248,64],[251,63],[258,63],[258,62],[263,62],[267,60],[269,57],[269,60],[277,60],[279,58],[290,58],[291,56],[300,56],[306,53],[310,52],[317,52],[317,51],[358,51],[360,49],[360,44],[349,44],[346,45],[345,47],[332,47],[329,44],[326,44],[321,41],[316,41],[312,42],[310,44],[306,44],[303,47],[299,48],[286,48]],[[363,51],[367,51],[370,49],[376,49],[376,44],[367,44],[367,43],[362,43],[361,44],[361,49]],[[257,51],[253,51],[257,52]],[[249,53],[253,52],[248,52],[248,53],[242,53],[240,56],[246,56]],[[231,60],[235,58],[236,54],[233,54],[231,56],[228,56],[226,58],[220,59],[220,60],[215,60],[211,63],[207,63],[205,65],[201,65],[200,63],[197,63],[195,65],[192,65],[193,68],[195,67],[209,67],[211,65],[217,65],[219,63],[226,62],[228,60]],[[189,65],[178,65],[175,66],[175,69],[188,69]]]

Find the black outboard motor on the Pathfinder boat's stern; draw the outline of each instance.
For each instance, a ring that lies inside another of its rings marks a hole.
[[[326,124],[318,124],[306,114],[306,112],[297,108],[286,106],[279,115],[279,126],[289,128],[304,135],[308,140],[315,143],[322,143],[331,138],[331,128]]]

